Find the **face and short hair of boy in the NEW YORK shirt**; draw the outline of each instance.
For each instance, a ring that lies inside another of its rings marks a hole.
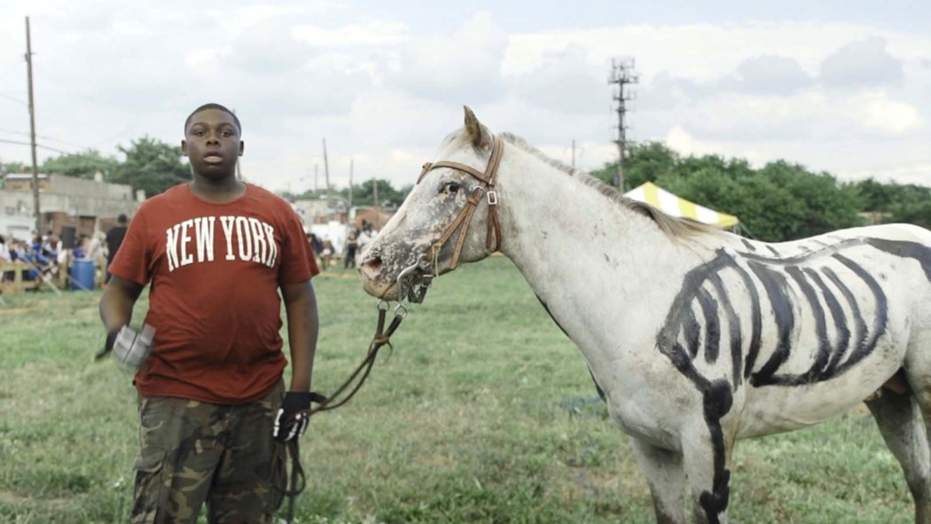
[[[195,175],[222,179],[236,174],[236,160],[244,144],[233,115],[220,109],[205,109],[191,118],[184,129],[182,153],[191,161]]]

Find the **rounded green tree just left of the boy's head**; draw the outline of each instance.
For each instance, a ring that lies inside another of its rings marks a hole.
[[[169,187],[191,180],[191,168],[182,163],[181,146],[142,137],[117,149],[126,161],[116,170],[114,181],[142,189],[146,196],[158,195]]]

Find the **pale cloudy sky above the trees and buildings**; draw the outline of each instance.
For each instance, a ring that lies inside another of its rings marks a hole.
[[[576,167],[614,162],[613,60],[633,64],[627,139],[839,179],[931,186],[926,0],[4,0],[0,161],[148,136],[180,143],[214,101],[248,181],[300,193],[412,184],[463,106]],[[574,145],[573,145],[574,144]],[[350,166],[352,167],[350,169]]]

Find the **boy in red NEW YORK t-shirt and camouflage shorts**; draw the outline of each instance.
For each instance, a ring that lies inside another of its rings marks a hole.
[[[155,340],[134,380],[133,523],[194,523],[205,502],[211,523],[270,522],[284,486],[272,478],[275,441],[300,437],[308,422],[317,346],[310,278],[319,270],[290,205],[236,180],[240,133],[219,104],[188,116],[182,153],[193,181],[142,204],[101,298],[109,350],[126,340],[117,342],[121,329],[131,333],[132,306],[152,285],[145,323]],[[288,316],[287,394],[278,289]]]

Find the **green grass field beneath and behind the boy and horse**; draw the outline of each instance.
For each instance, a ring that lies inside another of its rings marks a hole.
[[[375,301],[349,273],[315,287],[315,389],[329,393],[364,355]],[[115,363],[93,362],[99,299],[40,292],[0,303],[0,522],[128,521],[135,390]],[[299,522],[654,521],[582,356],[506,259],[437,280],[393,343],[358,396],[304,437]],[[731,517],[741,524],[911,516],[866,410],[735,451]]]

